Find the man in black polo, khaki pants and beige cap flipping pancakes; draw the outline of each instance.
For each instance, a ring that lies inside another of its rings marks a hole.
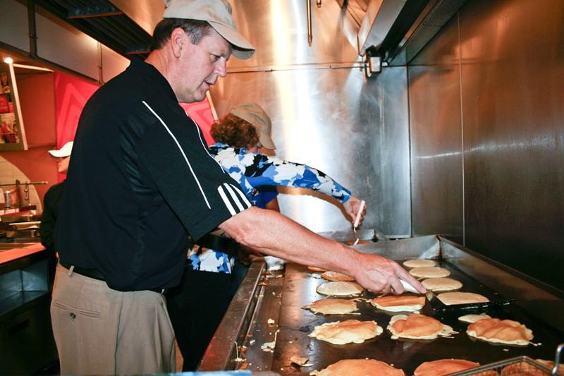
[[[173,372],[162,291],[180,281],[188,236],[218,226],[259,252],[350,274],[372,291],[403,292],[398,277],[424,291],[396,262],[251,207],[178,102],[203,100],[229,56],[246,59],[254,47],[226,0],[171,0],[164,18],[147,60],[100,87],[80,116],[56,224],[51,319],[61,374]]]

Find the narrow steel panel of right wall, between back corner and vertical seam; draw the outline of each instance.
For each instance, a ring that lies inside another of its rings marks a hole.
[[[458,24],[409,68],[413,234],[462,241],[462,124]]]

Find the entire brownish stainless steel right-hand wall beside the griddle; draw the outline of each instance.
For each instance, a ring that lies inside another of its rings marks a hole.
[[[560,289],[563,35],[563,1],[468,1],[408,68],[414,233]]]

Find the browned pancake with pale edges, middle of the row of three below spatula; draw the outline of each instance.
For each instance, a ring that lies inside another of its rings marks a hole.
[[[388,325],[392,339],[435,339],[438,336],[448,336],[456,333],[453,328],[444,325],[439,320],[425,315],[412,313],[409,316],[393,316]]]

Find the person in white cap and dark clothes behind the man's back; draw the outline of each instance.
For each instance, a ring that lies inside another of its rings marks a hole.
[[[73,142],[66,142],[59,150],[49,150],[51,157],[57,160],[57,172],[66,174],[68,163],[71,161],[71,152],[73,151]],[[43,198],[43,213],[41,215],[41,224],[39,224],[39,236],[41,243],[47,249],[49,255],[49,284],[53,284],[55,279],[55,268],[57,265],[57,256],[55,248],[55,223],[61,207],[61,197],[65,181],[56,183],[45,193]]]

